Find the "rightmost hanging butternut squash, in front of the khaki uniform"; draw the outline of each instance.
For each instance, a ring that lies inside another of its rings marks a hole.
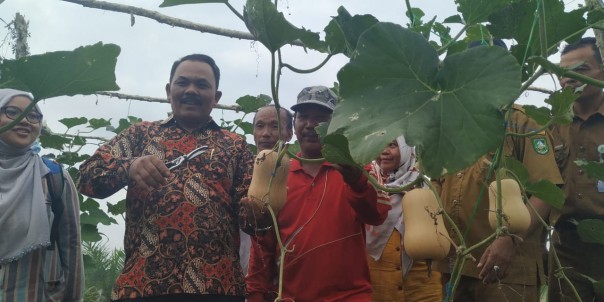
[[[531,225],[531,213],[524,204],[520,186],[509,178],[501,180],[502,225],[512,233],[522,234]],[[489,185],[489,224],[497,229],[497,182]]]

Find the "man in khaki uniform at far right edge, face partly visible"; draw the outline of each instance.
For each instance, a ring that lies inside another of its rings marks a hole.
[[[594,38],[583,38],[562,50],[560,66],[596,80],[604,80],[602,58]],[[576,67],[575,67],[576,66]],[[561,78],[562,87],[578,88],[583,83]],[[550,217],[555,225],[553,246],[564,272],[570,278],[583,301],[604,301],[604,295],[594,291],[592,282],[604,279],[604,245],[585,243],[577,233],[573,220],[604,219],[604,183],[587,176],[574,162],[577,159],[603,161],[604,154],[604,94],[602,88],[587,85],[573,104],[574,118],[570,125],[555,126],[556,160],[564,177],[566,201],[562,210],[553,210]],[[553,256],[550,253],[550,256]],[[550,257],[549,301],[575,301],[569,286],[554,275],[559,267]],[[562,289],[560,288],[562,284]],[[594,300],[595,298],[595,300]]]

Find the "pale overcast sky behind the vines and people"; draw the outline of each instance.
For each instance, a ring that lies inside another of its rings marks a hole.
[[[114,2],[157,10],[195,23],[247,31],[243,22],[223,4],[159,8],[160,0]],[[245,1],[230,3],[241,12]],[[456,13],[453,0],[416,0],[411,4],[422,8],[427,16],[437,16],[438,21]],[[380,21],[402,25],[408,22],[404,15],[404,0],[287,0],[279,3],[279,8],[291,23],[315,32],[323,31],[330,18],[337,15],[339,6],[344,6],[352,15],[372,14]],[[5,0],[0,4],[0,18],[5,22],[10,22],[16,12],[29,20],[31,54],[73,50],[99,41],[119,45],[121,54],[116,77],[122,93],[165,97],[164,86],[174,60],[191,53],[205,53],[214,57],[221,69],[222,104],[232,105],[238,97],[248,94],[270,95],[270,56],[260,43],[173,28],[144,17],[135,17],[135,24],[131,26],[127,14],[57,0]],[[0,38],[5,34],[6,30],[0,29]],[[13,57],[6,44],[0,47],[0,56]],[[300,47],[284,47],[284,61],[298,68],[314,67],[323,58],[324,55],[312,51],[306,54]],[[338,56],[319,72],[310,75],[297,75],[286,70],[281,79],[282,105],[287,108],[293,105],[295,96],[303,87],[332,86],[337,81],[337,71],[345,63],[346,58]],[[553,85],[551,80],[542,83],[545,86]],[[540,103],[542,98],[533,96],[521,102]],[[159,120],[170,111],[168,104],[124,101],[104,96],[53,98],[44,101],[41,108],[48,125],[55,132],[65,131],[56,122],[64,117],[113,118],[116,121],[133,115],[144,120]],[[222,114],[222,111],[215,110],[213,116],[220,119]],[[104,205],[102,208],[105,209]],[[121,246],[123,228],[123,222],[117,227],[103,228],[110,237],[110,246]]]

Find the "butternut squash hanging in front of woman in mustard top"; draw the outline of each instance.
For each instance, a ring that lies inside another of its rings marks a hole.
[[[438,209],[431,190],[413,189],[403,196],[403,243],[414,260],[441,260],[449,254],[451,241]]]

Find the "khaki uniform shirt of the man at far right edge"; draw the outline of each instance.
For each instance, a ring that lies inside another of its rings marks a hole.
[[[578,159],[604,162],[604,154],[598,152],[599,146],[604,148],[604,103],[587,120],[575,116],[569,125],[554,126],[552,134],[566,194],[562,210],[552,211],[552,222],[604,219],[604,183],[575,164]]]

